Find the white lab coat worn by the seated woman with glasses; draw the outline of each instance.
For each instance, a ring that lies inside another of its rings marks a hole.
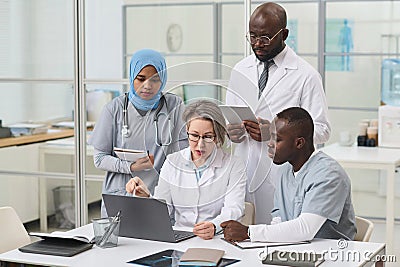
[[[246,173],[243,162],[222,149],[197,181],[189,148],[167,156],[154,197],[166,200],[175,226],[238,220],[244,213]],[[191,161],[191,160],[190,160]]]

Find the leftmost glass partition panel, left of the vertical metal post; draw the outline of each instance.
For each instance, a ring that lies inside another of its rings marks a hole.
[[[70,0],[0,2],[0,120],[13,134],[0,138],[0,206],[37,222],[28,230],[75,225],[67,218],[75,212],[74,146],[68,158],[43,152],[51,140],[74,136],[73,126],[53,127],[73,116],[73,11]],[[56,196],[64,186],[65,201]]]

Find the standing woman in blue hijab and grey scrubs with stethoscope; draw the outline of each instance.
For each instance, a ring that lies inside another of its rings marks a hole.
[[[151,49],[137,51],[129,81],[129,93],[104,106],[89,140],[94,165],[106,171],[105,194],[126,194],[125,185],[135,176],[153,193],[166,156],[188,145],[182,99],[162,92],[167,81],[164,57]],[[132,162],[118,158],[116,148],[147,151],[148,156]],[[101,216],[107,216],[104,203]]]

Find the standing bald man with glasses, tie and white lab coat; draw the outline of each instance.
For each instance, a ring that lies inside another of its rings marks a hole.
[[[237,143],[235,154],[246,164],[246,201],[255,205],[255,223],[271,222],[278,168],[267,154],[272,118],[288,107],[302,107],[314,121],[316,144],[326,142],[331,132],[321,75],[286,46],[286,24],[286,11],[276,3],[254,10],[246,34],[254,54],[235,65],[226,93],[226,104],[250,106],[258,117],[257,122],[228,125],[229,138]]]

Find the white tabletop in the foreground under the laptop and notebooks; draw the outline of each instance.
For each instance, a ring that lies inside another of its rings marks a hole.
[[[93,231],[92,225],[88,224],[83,227],[72,230],[72,233]],[[191,238],[176,244],[140,240],[133,238],[120,237],[118,246],[115,248],[98,248],[94,246],[92,249],[82,252],[73,257],[48,256],[40,254],[23,253],[15,249],[0,254],[0,261],[19,262],[28,264],[39,264],[45,266],[139,266],[128,264],[128,261],[137,259],[146,255],[153,254],[166,249],[176,249],[185,251],[189,247],[205,247],[225,250],[225,258],[240,259],[240,262],[230,266],[267,266],[258,260],[258,253],[262,249],[246,249],[242,250],[220,239],[221,236],[214,237],[212,240],[202,240],[199,237]],[[278,248],[278,247],[276,247]],[[316,253],[324,250],[340,251],[360,251],[362,255],[384,255],[385,244],[368,243],[368,242],[348,242],[347,248],[339,250],[336,240],[314,240],[311,244],[293,245],[279,247],[286,251],[315,251]],[[272,251],[272,250],[271,250]],[[365,264],[365,265],[364,265]],[[373,263],[360,261],[325,261],[321,266],[372,266]]]

